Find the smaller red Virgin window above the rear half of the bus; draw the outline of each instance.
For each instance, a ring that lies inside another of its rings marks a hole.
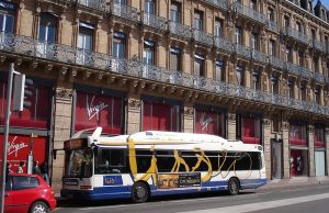
[[[223,113],[207,110],[195,110],[195,133],[223,135]]]

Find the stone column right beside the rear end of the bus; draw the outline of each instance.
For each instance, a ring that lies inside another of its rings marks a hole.
[[[266,178],[271,179],[271,165],[272,165],[272,156],[271,156],[271,119],[263,119],[263,150],[265,156],[265,165],[266,165]]]

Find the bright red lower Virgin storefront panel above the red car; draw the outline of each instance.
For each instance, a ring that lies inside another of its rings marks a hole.
[[[11,169],[16,171],[21,160],[26,162],[30,150],[34,160],[38,160],[42,165],[46,159],[46,144],[47,137],[35,137],[30,143],[30,135],[9,135],[7,160],[12,165]],[[0,152],[2,154],[3,148],[3,134],[0,135]],[[2,161],[2,158],[0,159]],[[26,172],[26,167],[24,168]]]

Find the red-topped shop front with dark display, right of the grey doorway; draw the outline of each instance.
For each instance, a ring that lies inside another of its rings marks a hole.
[[[306,124],[290,124],[291,147],[291,176],[300,177],[308,175],[308,146]]]

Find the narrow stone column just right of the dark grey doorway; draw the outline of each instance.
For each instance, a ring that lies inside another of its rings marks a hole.
[[[283,141],[283,178],[291,177],[291,153],[290,153],[290,123],[282,122],[282,141]]]

